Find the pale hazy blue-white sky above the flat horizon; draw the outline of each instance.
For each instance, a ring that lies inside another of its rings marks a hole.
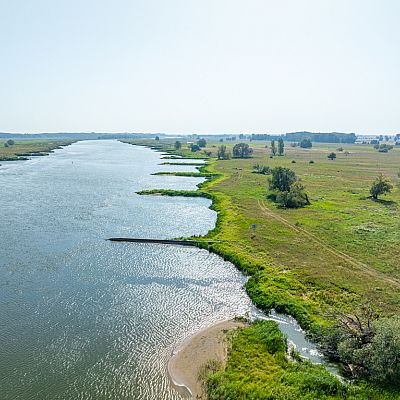
[[[0,0],[0,132],[400,133],[398,0]]]

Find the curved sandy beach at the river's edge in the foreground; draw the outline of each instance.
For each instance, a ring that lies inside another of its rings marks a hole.
[[[245,326],[239,321],[223,321],[189,337],[168,362],[168,374],[173,386],[193,399],[203,399],[198,380],[200,368],[209,360],[226,361],[226,331]]]

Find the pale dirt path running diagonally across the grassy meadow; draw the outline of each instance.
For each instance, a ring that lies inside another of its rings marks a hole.
[[[269,209],[263,200],[258,200],[258,205],[261,209],[261,212],[266,215],[267,217],[270,217],[272,219],[275,219],[276,221],[281,222],[283,225],[286,227],[292,229],[296,233],[302,234],[306,236],[308,239],[313,241],[314,243],[317,243],[319,246],[321,246],[324,250],[327,252],[333,254],[334,256],[344,260],[346,263],[351,264],[353,267],[357,268],[358,270],[374,277],[375,279],[380,279],[382,281],[388,282],[396,287],[400,288],[400,281],[396,278],[388,277],[387,275],[383,274],[382,272],[379,272],[375,270],[374,268],[370,267],[369,265],[355,259],[354,257],[350,256],[349,254],[346,254],[340,250],[337,250],[333,246],[323,242],[321,239],[319,239],[316,235],[310,233],[306,229],[303,229],[299,226],[296,226],[289,222],[287,219],[283,218],[282,216],[274,213],[271,209]]]

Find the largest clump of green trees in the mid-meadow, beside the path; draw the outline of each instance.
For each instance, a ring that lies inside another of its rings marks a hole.
[[[310,204],[304,186],[293,170],[285,167],[271,169],[268,183],[270,190],[268,197],[279,206],[300,208]]]

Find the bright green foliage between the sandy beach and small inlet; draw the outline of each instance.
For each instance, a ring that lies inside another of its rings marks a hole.
[[[273,321],[256,321],[232,338],[225,370],[208,375],[210,400],[343,399],[349,388],[323,367],[290,362]]]

